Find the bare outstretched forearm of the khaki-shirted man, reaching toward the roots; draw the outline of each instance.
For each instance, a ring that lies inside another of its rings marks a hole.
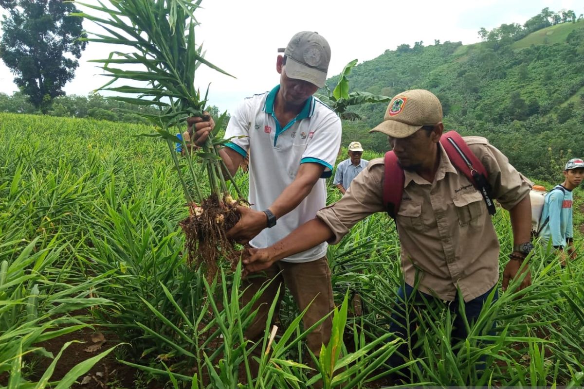
[[[270,251],[270,258],[273,261],[279,261],[282,258],[287,258],[290,255],[315,247],[332,239],[333,236],[332,230],[325,222],[314,218],[298,227],[284,239],[276,242],[272,247],[267,248],[267,250]]]

